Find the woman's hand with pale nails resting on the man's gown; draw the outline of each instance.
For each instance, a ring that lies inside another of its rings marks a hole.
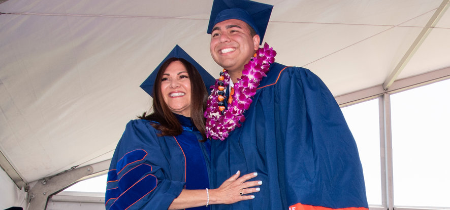
[[[225,180],[219,188],[209,190],[210,204],[231,204],[241,200],[253,199],[254,195],[248,195],[249,193],[260,191],[259,187],[252,188],[254,186],[262,185],[261,181],[247,180],[258,176],[258,173],[250,173],[239,177],[241,174],[238,171],[235,175]]]

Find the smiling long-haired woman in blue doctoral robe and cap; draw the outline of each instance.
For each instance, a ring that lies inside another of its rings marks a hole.
[[[256,174],[240,172],[209,189],[203,75],[209,73],[176,46],[141,85],[153,97],[153,113],[126,125],[108,172],[106,209],[209,209],[259,191],[261,182],[247,182]]]

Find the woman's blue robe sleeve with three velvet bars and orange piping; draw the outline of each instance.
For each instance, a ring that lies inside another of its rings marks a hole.
[[[178,197],[185,183],[173,180],[160,138],[148,121],[128,122],[111,160],[106,209],[167,209]]]

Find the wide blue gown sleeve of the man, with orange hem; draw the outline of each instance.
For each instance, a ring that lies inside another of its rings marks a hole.
[[[288,67],[274,88],[278,173],[290,209],[368,208],[355,139],[324,82]]]

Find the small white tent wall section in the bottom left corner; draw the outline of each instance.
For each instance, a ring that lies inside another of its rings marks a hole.
[[[0,209],[12,206],[26,209],[26,192],[20,190],[3,169],[0,169],[0,186]]]

